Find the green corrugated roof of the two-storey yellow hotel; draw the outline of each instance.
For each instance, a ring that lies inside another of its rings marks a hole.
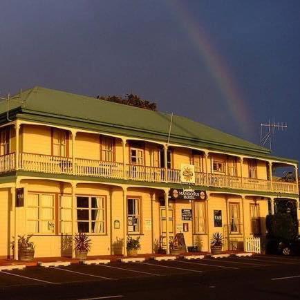
[[[15,95],[10,100],[10,111],[18,111],[18,118],[33,118],[41,122],[60,124],[63,120],[80,128],[96,130],[99,126],[107,132],[133,137],[152,138],[167,142],[171,115],[149,111],[124,104],[98,100],[36,86]],[[7,111],[7,103],[0,103],[0,113]],[[217,129],[174,115],[171,140],[178,144],[207,147],[233,153],[269,156],[270,151],[241,138]]]

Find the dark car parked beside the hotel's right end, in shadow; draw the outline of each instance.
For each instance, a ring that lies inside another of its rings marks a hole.
[[[267,254],[300,255],[300,235],[294,236],[290,240],[268,239]]]

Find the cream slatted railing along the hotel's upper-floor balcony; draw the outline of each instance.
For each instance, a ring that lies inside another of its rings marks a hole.
[[[44,154],[19,153],[18,169],[51,174],[69,174],[77,176],[95,176],[147,182],[172,182],[181,184],[179,169],[168,169],[142,165],[123,165],[122,162],[104,162],[83,158],[64,158]],[[15,153],[0,156],[0,173],[15,171]],[[298,194],[296,182],[242,178],[195,172],[196,185],[245,189],[252,191],[274,191],[278,193]]]

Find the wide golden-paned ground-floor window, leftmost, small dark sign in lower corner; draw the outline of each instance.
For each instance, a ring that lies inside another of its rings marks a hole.
[[[28,194],[26,205],[26,232],[28,234],[53,234],[54,195]]]

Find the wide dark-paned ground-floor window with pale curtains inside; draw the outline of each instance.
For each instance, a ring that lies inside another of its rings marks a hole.
[[[77,232],[104,234],[104,197],[77,196]]]

